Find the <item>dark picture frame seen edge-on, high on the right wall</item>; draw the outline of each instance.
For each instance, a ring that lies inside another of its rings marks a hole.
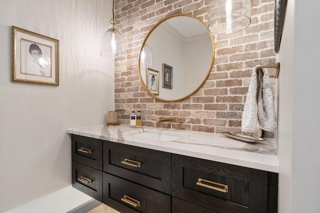
[[[274,51],[280,49],[287,0],[274,0]]]

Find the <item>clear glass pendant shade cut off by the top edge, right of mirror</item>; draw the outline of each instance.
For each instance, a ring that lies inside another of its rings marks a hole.
[[[250,0],[211,0],[207,22],[209,32],[230,34],[245,29],[250,23]]]

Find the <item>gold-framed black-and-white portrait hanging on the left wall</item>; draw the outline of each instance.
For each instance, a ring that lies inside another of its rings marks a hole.
[[[59,40],[12,28],[11,81],[59,85]]]

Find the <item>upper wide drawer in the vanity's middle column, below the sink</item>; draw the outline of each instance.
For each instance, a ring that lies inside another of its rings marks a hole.
[[[103,171],[171,194],[171,154],[103,142]]]

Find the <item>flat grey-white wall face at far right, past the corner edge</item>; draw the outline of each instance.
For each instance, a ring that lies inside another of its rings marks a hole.
[[[295,1],[292,211],[320,212],[320,13],[318,0]]]

